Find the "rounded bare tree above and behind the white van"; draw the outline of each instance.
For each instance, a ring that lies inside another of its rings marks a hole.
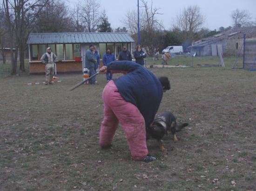
[[[202,15],[200,7],[196,5],[188,6],[177,14],[173,28],[178,28],[185,35],[184,40],[192,42],[195,32],[201,29],[204,22],[205,17]]]

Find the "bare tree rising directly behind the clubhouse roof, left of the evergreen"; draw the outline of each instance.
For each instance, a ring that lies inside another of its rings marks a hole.
[[[96,32],[98,29],[100,15],[100,3],[97,0],[84,0],[81,6],[82,23],[88,32]]]

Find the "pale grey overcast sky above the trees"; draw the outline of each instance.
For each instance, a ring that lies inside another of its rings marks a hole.
[[[71,6],[83,0],[67,0]],[[121,20],[128,10],[137,8],[137,0],[97,0],[101,8],[105,9],[108,21],[112,28],[123,27]],[[151,2],[151,0],[148,0]],[[201,8],[202,14],[206,18],[204,27],[210,30],[218,30],[220,26],[228,27],[232,25],[230,14],[236,8],[246,9],[251,13],[253,20],[256,20],[256,0],[153,0],[153,7],[160,8],[162,15],[158,19],[162,20],[164,28],[169,29],[176,14],[189,5],[197,5]]]

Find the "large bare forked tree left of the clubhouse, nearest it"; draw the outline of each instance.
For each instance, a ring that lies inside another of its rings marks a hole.
[[[17,72],[18,50],[20,51],[20,70],[25,71],[26,39],[34,27],[42,7],[50,0],[3,0],[6,23],[11,45],[11,74]],[[15,49],[15,51],[13,50]]]

